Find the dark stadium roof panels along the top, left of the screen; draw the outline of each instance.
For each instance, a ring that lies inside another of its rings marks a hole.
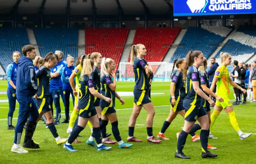
[[[173,0],[0,0],[0,14],[9,14],[18,6],[18,14],[36,14],[44,7],[44,14],[66,14],[70,1],[71,15],[92,15],[93,2],[99,15],[118,14],[118,6],[124,14],[144,14],[148,8],[151,14],[165,14]]]

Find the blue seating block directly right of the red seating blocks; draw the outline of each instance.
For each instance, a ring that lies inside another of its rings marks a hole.
[[[190,50],[201,50],[204,57],[208,58],[231,30],[226,27],[189,27],[170,62],[185,58]]]

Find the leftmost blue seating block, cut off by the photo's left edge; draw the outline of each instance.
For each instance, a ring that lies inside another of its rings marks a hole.
[[[26,28],[1,28],[0,32],[0,64],[6,71],[8,64],[13,62],[12,52],[21,52],[22,46],[30,44]]]

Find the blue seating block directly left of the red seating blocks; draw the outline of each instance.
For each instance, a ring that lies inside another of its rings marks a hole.
[[[49,52],[60,50],[77,59],[78,29],[77,28],[34,28],[36,42],[42,58]]]

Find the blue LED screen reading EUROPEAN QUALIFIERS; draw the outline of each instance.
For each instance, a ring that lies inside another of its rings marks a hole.
[[[255,13],[256,0],[174,0],[174,16]]]

